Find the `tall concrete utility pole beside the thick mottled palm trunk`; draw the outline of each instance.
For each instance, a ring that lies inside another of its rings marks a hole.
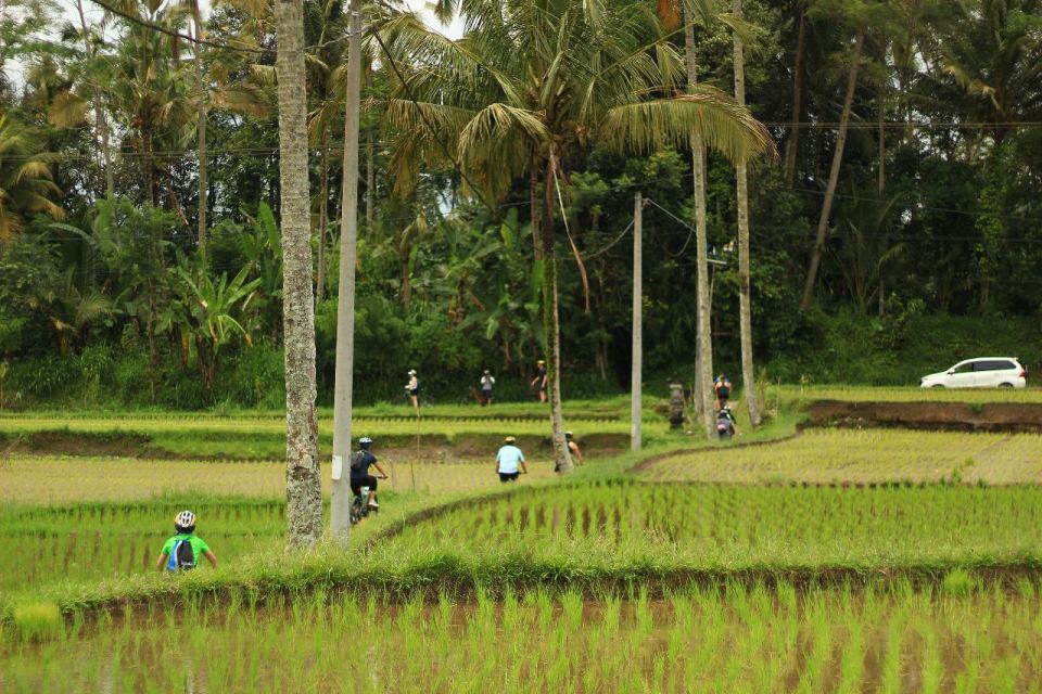
[[[336,299],[336,381],[333,389],[333,484],[330,530],[346,544],[351,531],[351,407],[355,365],[355,255],[358,242],[358,111],[361,93],[361,8],[351,0],[344,115],[344,192]]]

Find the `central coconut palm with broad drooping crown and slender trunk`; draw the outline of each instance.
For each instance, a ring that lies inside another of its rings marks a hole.
[[[571,470],[560,394],[555,205],[570,157],[597,140],[649,152],[684,147],[691,133],[732,158],[772,149],[766,130],[725,94],[683,93],[679,55],[653,9],[637,2],[443,0],[468,33],[452,41],[409,16],[384,29],[399,75],[389,104],[399,185],[417,163],[459,159],[466,188],[486,202],[528,177],[543,264],[555,458]],[[542,207],[542,209],[539,209]],[[542,218],[542,219],[541,219]],[[536,223],[539,222],[539,223]]]

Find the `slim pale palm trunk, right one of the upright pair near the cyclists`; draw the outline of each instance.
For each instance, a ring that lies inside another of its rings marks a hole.
[[[732,14],[741,18],[741,0],[734,0]],[[746,56],[741,36],[735,31],[735,101],[746,105]],[[738,322],[741,333],[741,389],[753,426],[760,426],[760,404],[752,373],[752,308],[749,301],[749,169],[745,159],[735,165],[738,196]]]

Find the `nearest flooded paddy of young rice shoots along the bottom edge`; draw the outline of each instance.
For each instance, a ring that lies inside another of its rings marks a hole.
[[[726,583],[646,591],[283,595],[154,603],[12,634],[0,689],[533,692],[1029,691],[1042,679],[1038,586],[942,596]],[[336,647],[335,644],[343,644]],[[958,683],[957,687],[953,686]]]

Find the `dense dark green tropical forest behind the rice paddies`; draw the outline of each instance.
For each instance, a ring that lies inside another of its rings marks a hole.
[[[140,23],[68,15],[73,24],[55,35],[42,29],[62,24],[58,5],[9,4],[17,11],[0,27],[0,407],[278,407],[269,17],[215,9],[211,40],[259,52],[211,47],[200,76],[190,42]],[[124,4],[131,17],[171,29],[192,24],[180,5]],[[328,399],[346,18],[342,3],[306,9],[319,394]],[[620,16],[646,9],[611,0]],[[780,154],[754,168],[750,185],[755,350],[768,376],[893,384],[987,351],[1035,361],[1039,345],[1025,336],[1037,334],[1042,268],[1040,9],[1039,0],[747,0],[748,101]],[[383,11],[367,16],[382,21]],[[658,35],[656,26],[633,24],[647,34],[637,38],[649,55],[663,36],[679,48],[671,17]],[[817,307],[801,312],[850,47],[864,26]],[[725,92],[729,30],[696,27],[699,81]],[[411,54],[404,37],[384,37],[393,54]],[[468,399],[485,368],[499,378],[500,397],[529,397],[544,344],[530,181],[497,182],[488,206],[453,165],[406,178],[401,159],[409,152],[443,160],[444,153],[427,156],[439,145],[418,123],[425,139],[414,138],[412,150],[402,144],[386,114],[392,97],[402,98],[392,68],[410,65],[386,60],[376,43],[369,50],[357,397],[397,399],[409,368],[442,402]],[[201,103],[205,152],[196,140]],[[596,128],[568,132],[564,213],[556,213],[566,218],[556,229],[566,395],[619,391],[627,382],[631,252],[622,234],[636,191],[655,203],[644,222],[645,372],[656,383],[686,375],[695,326],[689,154],[627,157],[609,152]],[[196,239],[201,159],[209,181],[205,249]],[[710,243],[727,260],[733,169],[717,156],[708,190]],[[566,261],[569,239],[585,274]],[[732,262],[714,279],[714,354],[728,371],[738,363],[737,306]]]

